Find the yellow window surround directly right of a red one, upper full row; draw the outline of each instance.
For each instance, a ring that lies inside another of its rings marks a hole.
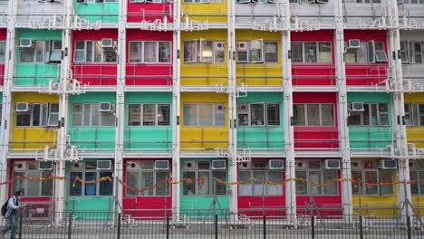
[[[228,83],[228,51],[226,45],[226,62],[224,63],[185,63],[184,62],[184,42],[190,40],[205,39],[208,41],[225,42],[226,30],[210,30],[203,32],[183,32],[181,33],[181,85],[184,86],[217,86],[217,84],[227,85]]]

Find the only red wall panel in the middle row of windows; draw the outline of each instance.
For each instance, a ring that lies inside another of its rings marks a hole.
[[[332,103],[334,105],[334,126],[294,127],[294,147],[296,148],[339,148],[337,128],[337,98],[332,92],[294,92],[294,103]]]

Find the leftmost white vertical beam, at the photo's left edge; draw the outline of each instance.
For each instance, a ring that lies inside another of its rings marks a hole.
[[[9,150],[10,129],[12,127],[13,95],[11,89],[14,84],[14,59],[16,49],[16,33],[14,24],[16,21],[17,2],[9,1],[7,11],[7,42],[5,48],[5,83],[3,86],[2,124],[0,130],[1,158],[0,158],[0,182],[7,180],[7,152]],[[11,162],[12,163],[12,162]],[[8,185],[0,186],[0,201],[7,200]]]

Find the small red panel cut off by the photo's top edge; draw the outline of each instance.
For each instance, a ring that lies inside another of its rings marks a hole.
[[[130,3],[128,0],[129,23],[163,21],[164,17],[169,23],[172,22],[172,4]]]

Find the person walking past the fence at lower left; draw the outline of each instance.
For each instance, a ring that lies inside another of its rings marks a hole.
[[[5,214],[7,224],[0,233],[2,239],[5,238],[7,232],[10,232],[10,239],[14,239],[18,227],[18,210],[22,207],[20,206],[21,196],[23,196],[22,191],[16,191],[14,196],[7,201],[7,212]]]

